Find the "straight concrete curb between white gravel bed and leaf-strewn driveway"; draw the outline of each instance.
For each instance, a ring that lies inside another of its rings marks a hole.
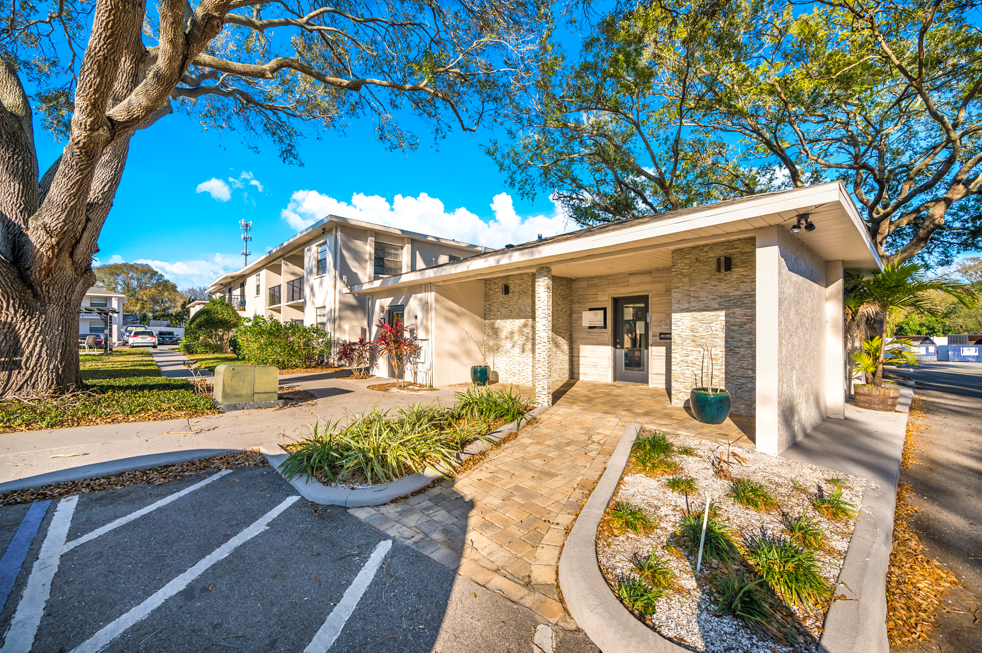
[[[909,419],[914,382],[897,383],[900,385],[897,410],[906,413]],[[900,447],[884,461],[885,466],[889,465],[886,479],[878,479],[877,488],[863,492],[859,517],[836,584],[836,596],[845,595],[846,600],[833,601],[829,606],[819,653],[890,653],[887,570],[893,551],[902,451],[901,439]]]

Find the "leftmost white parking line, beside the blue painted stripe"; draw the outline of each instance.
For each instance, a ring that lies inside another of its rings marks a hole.
[[[41,544],[41,552],[37,556],[34,568],[27,577],[27,586],[21,602],[17,605],[14,620],[10,623],[7,638],[4,640],[0,653],[28,653],[34,644],[37,626],[41,623],[44,606],[51,594],[51,579],[58,571],[62,547],[68,537],[69,526],[72,525],[72,515],[79,497],[67,497],[58,502],[54,517],[48,524],[48,534]]]

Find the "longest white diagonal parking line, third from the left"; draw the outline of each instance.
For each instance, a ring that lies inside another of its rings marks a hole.
[[[283,511],[287,510],[287,508],[289,508],[298,499],[300,499],[299,496],[284,499],[283,503],[262,517],[259,517],[252,523],[251,526],[246,528],[246,530],[242,531],[231,540],[215,549],[205,558],[201,559],[201,561],[197,565],[194,565],[194,567],[192,567],[190,570],[185,571],[178,577],[174,578],[174,580],[171,580],[162,588],[158,589],[156,592],[154,592],[153,596],[140,603],[138,606],[136,606],[136,608],[83,641],[81,644],[79,644],[79,646],[72,649],[72,653],[96,653],[96,651],[102,650],[109,644],[109,642],[123,634],[127,628],[148,617],[151,612],[163,605],[164,601],[187,587],[189,583],[191,583],[191,580],[201,575],[215,563],[226,558],[248,540],[266,530],[266,528],[269,527],[268,524],[270,521],[272,521]],[[0,651],[0,653],[2,653],[2,651]]]

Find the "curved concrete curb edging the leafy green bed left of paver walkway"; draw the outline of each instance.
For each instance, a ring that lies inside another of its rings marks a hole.
[[[518,431],[518,429],[521,427],[520,423],[524,423],[533,417],[538,417],[547,409],[548,408],[545,407],[533,408],[529,410],[527,415],[522,419],[509,422],[501,428],[488,433],[488,437],[494,443],[498,443],[507,435]],[[490,447],[490,444],[480,440],[471,443],[464,448],[464,451],[458,454],[458,461],[463,463],[474,454],[479,454]],[[283,475],[283,472],[280,470],[280,465],[287,460],[287,456],[287,454],[267,454],[266,459],[271,465],[273,465],[274,469]],[[340,487],[328,487],[314,478],[305,480],[297,477],[292,481],[289,481],[289,483],[293,485],[298,492],[300,492],[301,497],[307,501],[312,501],[315,504],[320,504],[323,506],[344,506],[345,508],[361,508],[363,506],[381,506],[391,501],[395,501],[400,497],[412,494],[416,490],[421,490],[438,478],[440,478],[440,474],[438,472],[434,471],[433,469],[424,469],[421,473],[404,476],[403,478],[395,480],[391,483],[386,483],[385,485],[359,488],[355,490],[348,490]],[[284,476],[284,479],[286,479],[286,476]]]

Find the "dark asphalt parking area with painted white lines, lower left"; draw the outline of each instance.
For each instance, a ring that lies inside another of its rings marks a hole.
[[[270,467],[4,507],[0,547],[0,653],[525,652],[547,626]]]

